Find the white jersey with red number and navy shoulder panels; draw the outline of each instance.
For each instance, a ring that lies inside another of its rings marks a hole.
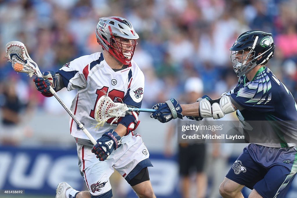
[[[77,89],[78,93],[72,101],[71,110],[97,140],[109,129],[116,129],[117,122],[110,126],[110,120],[104,126],[95,129],[97,122],[94,119],[96,102],[108,93],[114,102],[123,101],[127,105],[140,108],[143,98],[144,75],[134,61],[126,69],[115,72],[104,60],[103,53],[94,53],[81,56],[65,64],[57,73],[60,73],[68,91]],[[120,121],[120,119],[119,119]],[[73,137],[86,139],[88,137],[70,119],[70,134]],[[122,137],[127,142],[131,136]]]

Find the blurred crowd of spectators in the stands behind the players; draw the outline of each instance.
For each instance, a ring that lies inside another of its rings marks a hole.
[[[273,33],[276,45],[268,66],[296,97],[296,10],[295,0],[0,0],[0,52],[3,57],[6,43],[19,40],[41,71],[56,71],[101,51],[98,19],[122,16],[140,36],[133,59],[145,73],[143,107],[150,108],[182,96],[189,77],[200,77],[204,93],[213,98],[233,88],[238,78],[229,48],[242,32],[261,30]],[[33,94],[35,104],[44,105],[32,79],[15,75],[1,59],[0,93],[12,77],[27,86],[25,101]]]

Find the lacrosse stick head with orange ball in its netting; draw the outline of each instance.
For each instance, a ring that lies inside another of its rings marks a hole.
[[[7,43],[5,58],[11,62],[12,68],[16,72],[27,73],[30,77],[33,75],[42,76],[38,65],[30,58],[26,46],[22,42]]]

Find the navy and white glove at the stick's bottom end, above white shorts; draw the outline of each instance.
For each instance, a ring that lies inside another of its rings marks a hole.
[[[100,161],[104,161],[110,156],[113,150],[116,150],[121,145],[121,136],[119,136],[113,129],[110,129],[97,140],[97,144],[92,148],[92,153],[95,153]]]

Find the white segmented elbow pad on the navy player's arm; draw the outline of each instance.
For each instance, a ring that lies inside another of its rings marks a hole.
[[[234,112],[235,109],[229,96],[224,96],[217,100],[201,100],[199,102],[200,117],[219,119],[225,114]]]

